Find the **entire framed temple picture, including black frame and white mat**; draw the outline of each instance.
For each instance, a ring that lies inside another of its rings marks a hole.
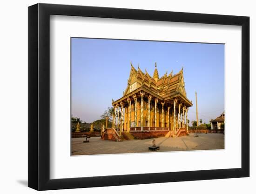
[[[28,187],[249,177],[249,17],[40,3],[27,26]]]

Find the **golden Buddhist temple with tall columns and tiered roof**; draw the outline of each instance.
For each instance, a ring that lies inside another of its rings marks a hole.
[[[188,134],[188,110],[192,101],[187,98],[183,67],[177,74],[167,74],[159,78],[155,71],[151,77],[147,70],[135,69],[131,63],[130,75],[123,96],[112,100],[115,113],[111,130],[115,139],[132,134],[136,139]],[[113,139],[108,137],[102,139]]]

